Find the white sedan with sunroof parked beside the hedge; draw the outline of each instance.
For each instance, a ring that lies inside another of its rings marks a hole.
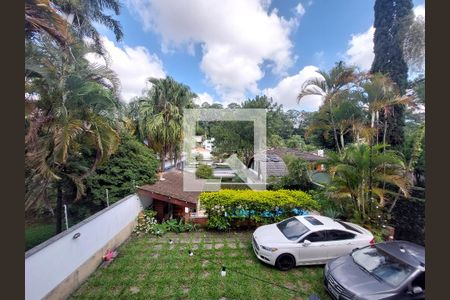
[[[252,244],[261,261],[286,271],[299,265],[325,264],[374,242],[370,231],[356,224],[305,215],[258,227]]]

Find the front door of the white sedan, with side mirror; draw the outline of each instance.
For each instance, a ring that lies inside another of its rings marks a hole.
[[[326,231],[311,232],[298,242],[298,264],[317,264],[327,260]],[[305,241],[309,241],[305,243]]]

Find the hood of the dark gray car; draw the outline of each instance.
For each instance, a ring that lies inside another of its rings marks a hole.
[[[344,255],[329,262],[328,268],[328,274],[355,295],[384,295],[393,291],[390,285],[361,269],[351,255]]]

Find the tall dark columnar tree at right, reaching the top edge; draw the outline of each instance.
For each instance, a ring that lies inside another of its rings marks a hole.
[[[404,94],[408,84],[408,65],[403,55],[407,32],[414,20],[411,0],[376,0],[375,34],[372,73],[388,75]],[[382,122],[387,118],[391,124],[387,132],[387,142],[398,148],[404,142],[405,107],[397,104],[389,116],[381,114]]]

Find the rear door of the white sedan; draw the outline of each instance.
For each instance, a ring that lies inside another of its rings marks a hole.
[[[355,236],[355,234],[344,230],[327,230],[328,259],[348,254],[354,248],[357,248]]]

